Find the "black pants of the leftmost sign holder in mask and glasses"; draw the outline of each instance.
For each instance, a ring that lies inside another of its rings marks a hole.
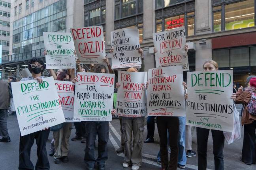
[[[37,131],[28,135],[20,136],[19,144],[19,170],[34,170],[34,166],[30,161],[31,147],[36,139],[37,156],[35,170],[49,170],[50,164],[46,152],[46,142],[50,130]]]

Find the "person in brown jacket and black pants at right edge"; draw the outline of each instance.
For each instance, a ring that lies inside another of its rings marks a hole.
[[[256,76],[250,77],[248,87],[243,91],[240,87],[237,92],[236,104],[244,104],[243,115],[241,119],[242,126],[245,127],[243,150],[240,158],[247,165],[256,163]],[[252,99],[254,98],[254,99]]]

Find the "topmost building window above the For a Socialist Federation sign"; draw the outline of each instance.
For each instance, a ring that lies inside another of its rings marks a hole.
[[[143,0],[120,0],[115,6],[115,19],[143,13]]]

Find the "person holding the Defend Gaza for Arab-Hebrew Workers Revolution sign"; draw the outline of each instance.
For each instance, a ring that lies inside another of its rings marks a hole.
[[[107,73],[107,69],[104,65],[94,66],[95,73]],[[73,83],[78,79],[73,79]],[[115,114],[115,109],[111,111],[111,114]],[[83,121],[82,121],[83,122]],[[109,140],[109,122],[86,122],[86,149],[85,149],[85,163],[87,164],[87,170],[94,170],[94,164],[98,164],[99,170],[105,170],[105,161],[107,161],[107,142]],[[98,158],[94,157],[94,147],[96,136],[98,135]]]

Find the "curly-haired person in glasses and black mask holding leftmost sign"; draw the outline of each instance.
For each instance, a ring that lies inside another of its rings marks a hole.
[[[23,78],[21,79],[21,81],[36,79],[38,80],[39,83],[43,82],[44,77],[41,76],[41,73],[45,70],[45,63],[40,58],[32,57],[30,59],[28,68],[30,72],[32,72],[32,76]],[[38,147],[37,148],[38,161],[36,162],[36,169],[43,169],[43,170],[50,169],[50,164],[47,157],[47,151],[45,148],[49,133],[50,133],[50,130],[48,128],[45,128],[44,130],[30,133],[28,135],[24,135],[24,136],[20,135],[19,170],[34,169],[33,163],[30,161],[30,152],[35,139]]]

